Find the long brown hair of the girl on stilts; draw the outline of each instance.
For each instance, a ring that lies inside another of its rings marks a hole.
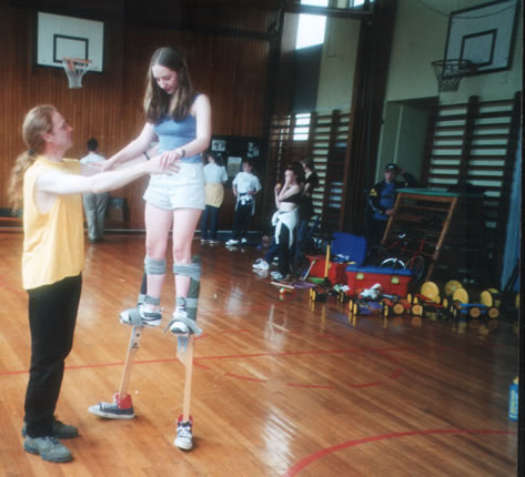
[[[165,67],[179,75],[176,91],[170,97],[157,84],[151,69],[154,65]],[[162,47],[151,57],[148,69],[144,94],[144,112],[148,122],[158,123],[164,114],[175,121],[183,120],[190,112],[193,102],[193,88],[184,57],[174,48]]]

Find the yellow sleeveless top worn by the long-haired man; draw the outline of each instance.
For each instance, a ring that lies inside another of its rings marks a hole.
[[[72,159],[53,162],[38,156],[23,176],[22,283],[26,290],[57,283],[82,272],[84,231],[82,196],[57,195],[51,209],[40,213],[34,203],[37,179],[49,171],[79,174]]]

